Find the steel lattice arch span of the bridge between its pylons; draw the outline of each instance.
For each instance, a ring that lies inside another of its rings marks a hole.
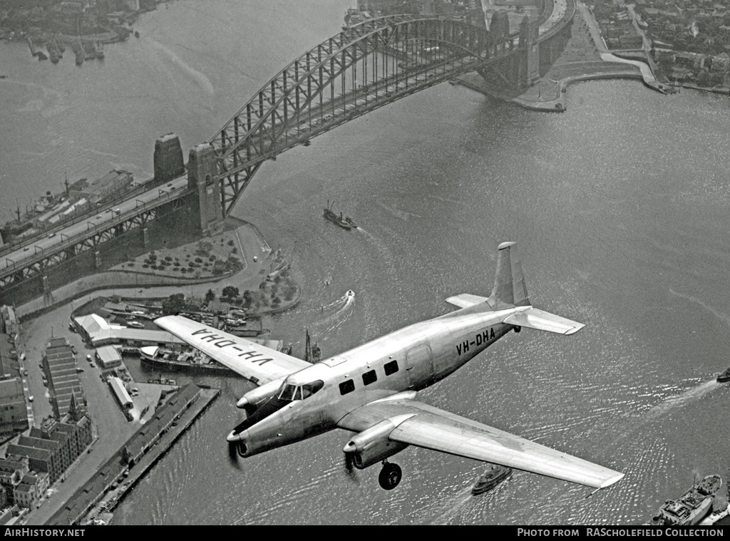
[[[209,140],[223,216],[264,161],[348,120],[475,70],[515,83],[499,60],[519,45],[460,21],[409,15],[343,29],[269,80]]]

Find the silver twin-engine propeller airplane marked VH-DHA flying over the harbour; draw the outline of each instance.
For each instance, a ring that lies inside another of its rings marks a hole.
[[[446,299],[459,310],[414,323],[357,348],[309,364],[181,316],[155,320],[220,364],[258,385],[237,402],[247,418],[227,440],[250,457],[335,428],[355,434],[346,464],[382,462],[380,486],[395,488],[401,468],[388,458],[409,445],[606,488],[623,473],[509,432],[429,406],[418,391],[442,380],[510,331],[523,327],[573,334],[582,323],[531,306],[514,242],[497,250],[489,297]]]

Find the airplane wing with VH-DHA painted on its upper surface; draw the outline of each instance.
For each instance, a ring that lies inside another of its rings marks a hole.
[[[264,385],[312,366],[299,358],[180,315],[166,315],[155,319],[155,323],[255,385]]]

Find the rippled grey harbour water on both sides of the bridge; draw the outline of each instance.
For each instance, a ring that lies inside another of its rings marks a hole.
[[[64,171],[151,176],[156,137],[174,131],[185,149],[210,138],[347,7],[161,4],[140,39],[78,69],[0,45],[4,217]],[[697,476],[726,478],[730,393],[714,379],[730,364],[729,104],[601,81],[539,114],[439,85],[268,162],[235,211],[294,261],[304,299],[265,324],[294,353],[304,329],[330,356],[447,312],[447,296],[488,293],[496,246],[517,241],[534,305],[585,329],[510,334],[420,399],[621,470],[621,483],[585,499],[515,471],[475,497],[483,464],[408,448],[386,492],[377,466],[345,474],[344,431],[234,467],[225,436],[248,384],[202,377],[222,396],[112,523],[629,524]],[[327,199],[361,229],[324,220]]]

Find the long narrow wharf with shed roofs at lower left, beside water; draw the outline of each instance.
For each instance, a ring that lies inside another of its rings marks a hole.
[[[128,491],[144,477],[144,475],[154,466],[154,464],[172,448],[174,442],[187,430],[193,421],[203,413],[203,411],[215,400],[220,394],[220,389],[200,388],[200,396],[193,402],[190,407],[185,409],[180,417],[170,426],[169,429],[163,431],[153,444],[140,456],[131,467],[123,463],[123,455],[126,448],[133,442],[140,431],[149,429],[149,426],[142,425],[140,429],[123,445],[118,453],[115,453],[107,464],[99,469],[101,477],[112,477],[106,475],[112,472],[113,477],[106,479],[104,485],[97,482],[95,475],[85,486],[79,488],[74,495],[65,502],[50,519],[45,522],[48,526],[69,526],[72,524],[83,524],[90,518],[96,518],[101,513],[108,513],[126,496]],[[180,392],[180,391],[179,391]],[[163,406],[164,407],[164,406]],[[159,411],[159,410],[158,410]],[[155,415],[153,415],[154,418]],[[28,524],[39,524],[34,521],[33,515],[28,520]]]

